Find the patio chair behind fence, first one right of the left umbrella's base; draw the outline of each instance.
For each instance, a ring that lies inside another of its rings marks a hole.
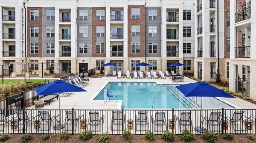
[[[78,118],[76,118],[76,112],[72,112],[72,111],[65,111],[66,113],[66,118],[65,118],[65,131],[72,131],[72,125],[75,125],[75,131],[76,131],[76,126],[79,122],[79,120],[81,119],[81,117],[84,118],[84,114],[81,116],[78,116]]]

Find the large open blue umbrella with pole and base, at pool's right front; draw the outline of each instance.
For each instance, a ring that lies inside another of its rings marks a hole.
[[[223,97],[223,98],[236,98],[204,81],[199,81],[190,84],[183,84],[176,87],[180,90],[185,97]],[[201,99],[201,109],[202,109],[202,99]],[[200,111],[200,126],[195,127],[198,132],[205,132],[206,129],[201,127],[201,111]]]

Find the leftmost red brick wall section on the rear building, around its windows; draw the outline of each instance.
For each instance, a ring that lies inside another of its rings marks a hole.
[[[39,10],[39,19],[38,20],[30,20],[30,11],[31,10]],[[28,7],[28,16],[27,16],[27,57],[42,57],[42,49],[43,49],[43,41],[42,41],[42,8],[41,7]],[[30,27],[38,27],[38,53],[30,53]]]

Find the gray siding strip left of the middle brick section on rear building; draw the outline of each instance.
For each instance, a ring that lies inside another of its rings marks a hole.
[[[88,20],[79,20],[79,10],[88,10]],[[92,15],[93,9],[91,7],[77,7],[77,57],[91,57],[92,56]],[[79,26],[88,26],[88,37],[79,37]],[[79,43],[88,44],[88,53],[79,53]]]

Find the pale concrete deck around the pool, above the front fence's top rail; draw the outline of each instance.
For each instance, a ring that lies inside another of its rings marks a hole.
[[[122,79],[124,80],[124,79]],[[116,79],[116,77],[103,77],[103,78],[90,78],[90,84],[84,87],[87,92],[73,93],[68,97],[60,94],[60,108],[61,109],[120,109],[122,102],[121,101],[92,101],[92,97],[98,94],[99,90],[102,89],[102,86],[105,85],[108,81],[121,81],[121,79]],[[171,84],[172,80],[169,78],[166,79],[126,79],[128,81],[140,81],[140,82],[157,82],[157,84]],[[192,79],[184,77],[184,82],[177,82],[177,84],[188,84],[196,82]],[[173,83],[176,84],[176,83]],[[241,109],[256,109],[255,104],[244,101],[239,98],[220,98],[224,101],[229,102],[230,104],[236,105]],[[44,104],[42,109],[58,109],[59,101],[54,99],[51,101],[50,105],[48,103]],[[34,109],[34,106],[29,107],[29,109]]]

